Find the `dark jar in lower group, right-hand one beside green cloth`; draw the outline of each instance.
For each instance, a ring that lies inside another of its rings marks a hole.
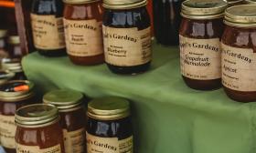
[[[133,128],[128,100],[120,97],[92,100],[88,104],[86,129],[88,152],[133,153]]]

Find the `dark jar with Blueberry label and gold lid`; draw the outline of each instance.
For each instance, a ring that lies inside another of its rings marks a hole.
[[[150,16],[146,0],[104,0],[105,62],[113,73],[137,74],[152,60]]]

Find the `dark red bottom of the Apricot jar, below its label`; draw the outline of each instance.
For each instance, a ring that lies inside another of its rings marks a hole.
[[[243,92],[223,87],[227,96],[235,101],[249,103],[256,101],[256,92]]]

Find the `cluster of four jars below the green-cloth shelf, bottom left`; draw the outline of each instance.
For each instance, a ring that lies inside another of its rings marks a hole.
[[[48,92],[43,103],[29,81],[0,86],[0,143],[6,153],[133,152],[130,106],[121,97],[88,103],[78,91]]]

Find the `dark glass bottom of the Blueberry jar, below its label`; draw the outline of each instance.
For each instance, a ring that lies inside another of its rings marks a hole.
[[[150,67],[150,64],[151,62],[139,66],[113,66],[107,63],[107,66],[112,71],[112,73],[115,74],[136,75],[147,71]]]

